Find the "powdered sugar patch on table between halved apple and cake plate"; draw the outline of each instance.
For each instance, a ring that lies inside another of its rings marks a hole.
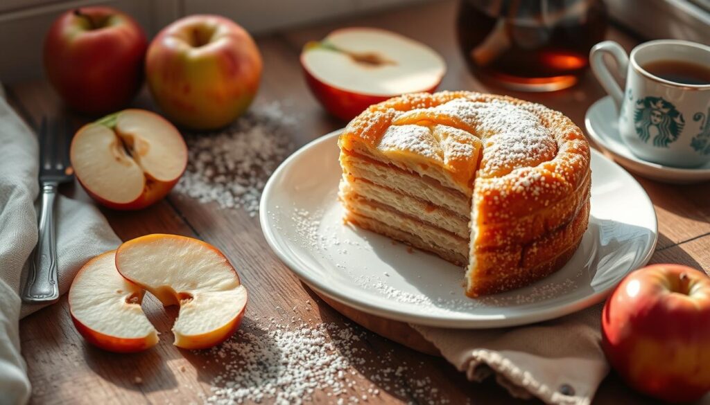
[[[175,191],[255,216],[266,180],[293,151],[287,129],[295,118],[280,104],[256,106],[228,128],[187,133],[189,160]]]

